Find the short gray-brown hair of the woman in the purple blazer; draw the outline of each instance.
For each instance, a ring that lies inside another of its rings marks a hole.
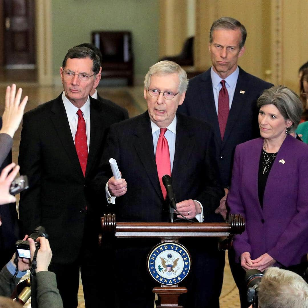
[[[285,86],[274,86],[264,90],[257,100],[257,107],[273,104],[285,120],[291,120],[290,133],[294,132],[301,120],[303,107],[298,95]]]

